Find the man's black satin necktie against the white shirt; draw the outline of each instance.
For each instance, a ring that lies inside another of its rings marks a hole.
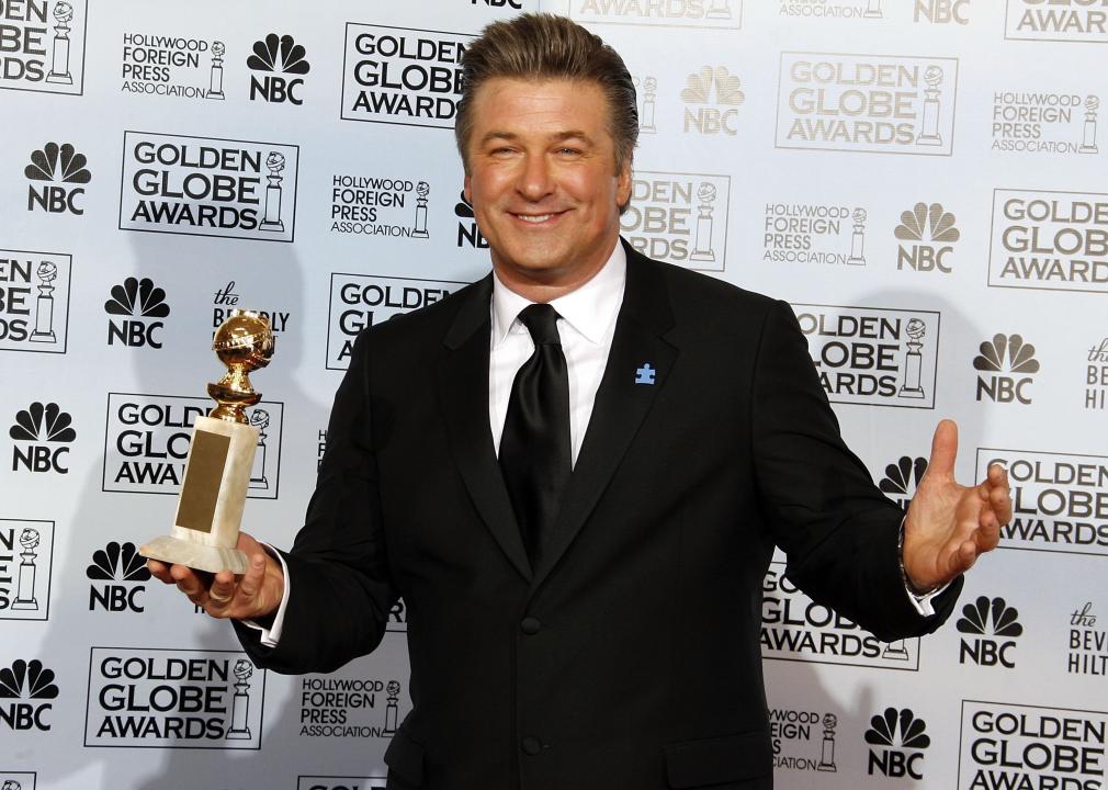
[[[557,318],[550,305],[520,312],[535,352],[515,375],[500,440],[500,469],[532,567],[550,538],[572,470],[570,375]]]

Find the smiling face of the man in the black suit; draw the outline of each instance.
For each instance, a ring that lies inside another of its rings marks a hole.
[[[495,79],[472,112],[465,198],[496,274],[515,290],[584,284],[607,261],[630,195],[599,86]]]

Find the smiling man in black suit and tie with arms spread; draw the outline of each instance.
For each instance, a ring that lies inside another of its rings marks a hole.
[[[637,120],[618,55],[525,14],[464,68],[493,274],[359,337],[289,554],[244,535],[240,579],[151,570],[250,620],[278,671],[373,649],[402,595],[413,709],[389,788],[769,788],[774,543],[878,636],[929,633],[1009,517],[1004,472],[955,483],[941,423],[902,526],[789,307],[620,244]]]

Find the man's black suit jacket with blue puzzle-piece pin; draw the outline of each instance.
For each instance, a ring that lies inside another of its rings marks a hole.
[[[627,250],[615,339],[552,543],[531,567],[489,429],[491,277],[363,332],[336,394],[274,649],[327,671],[398,595],[413,709],[389,788],[772,783],[759,634],[777,543],[884,639],[902,512],[843,445],[791,309]],[[657,371],[639,383],[644,365]]]

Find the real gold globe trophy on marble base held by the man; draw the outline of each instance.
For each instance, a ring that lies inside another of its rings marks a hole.
[[[198,571],[242,574],[247,568],[246,555],[235,546],[258,445],[258,428],[250,424],[246,407],[261,400],[248,375],[269,365],[273,357],[269,319],[259,312],[232,310],[216,330],[212,350],[227,366],[226,376],[207,386],[218,406],[196,419],[171,534],[138,551],[150,560]]]

